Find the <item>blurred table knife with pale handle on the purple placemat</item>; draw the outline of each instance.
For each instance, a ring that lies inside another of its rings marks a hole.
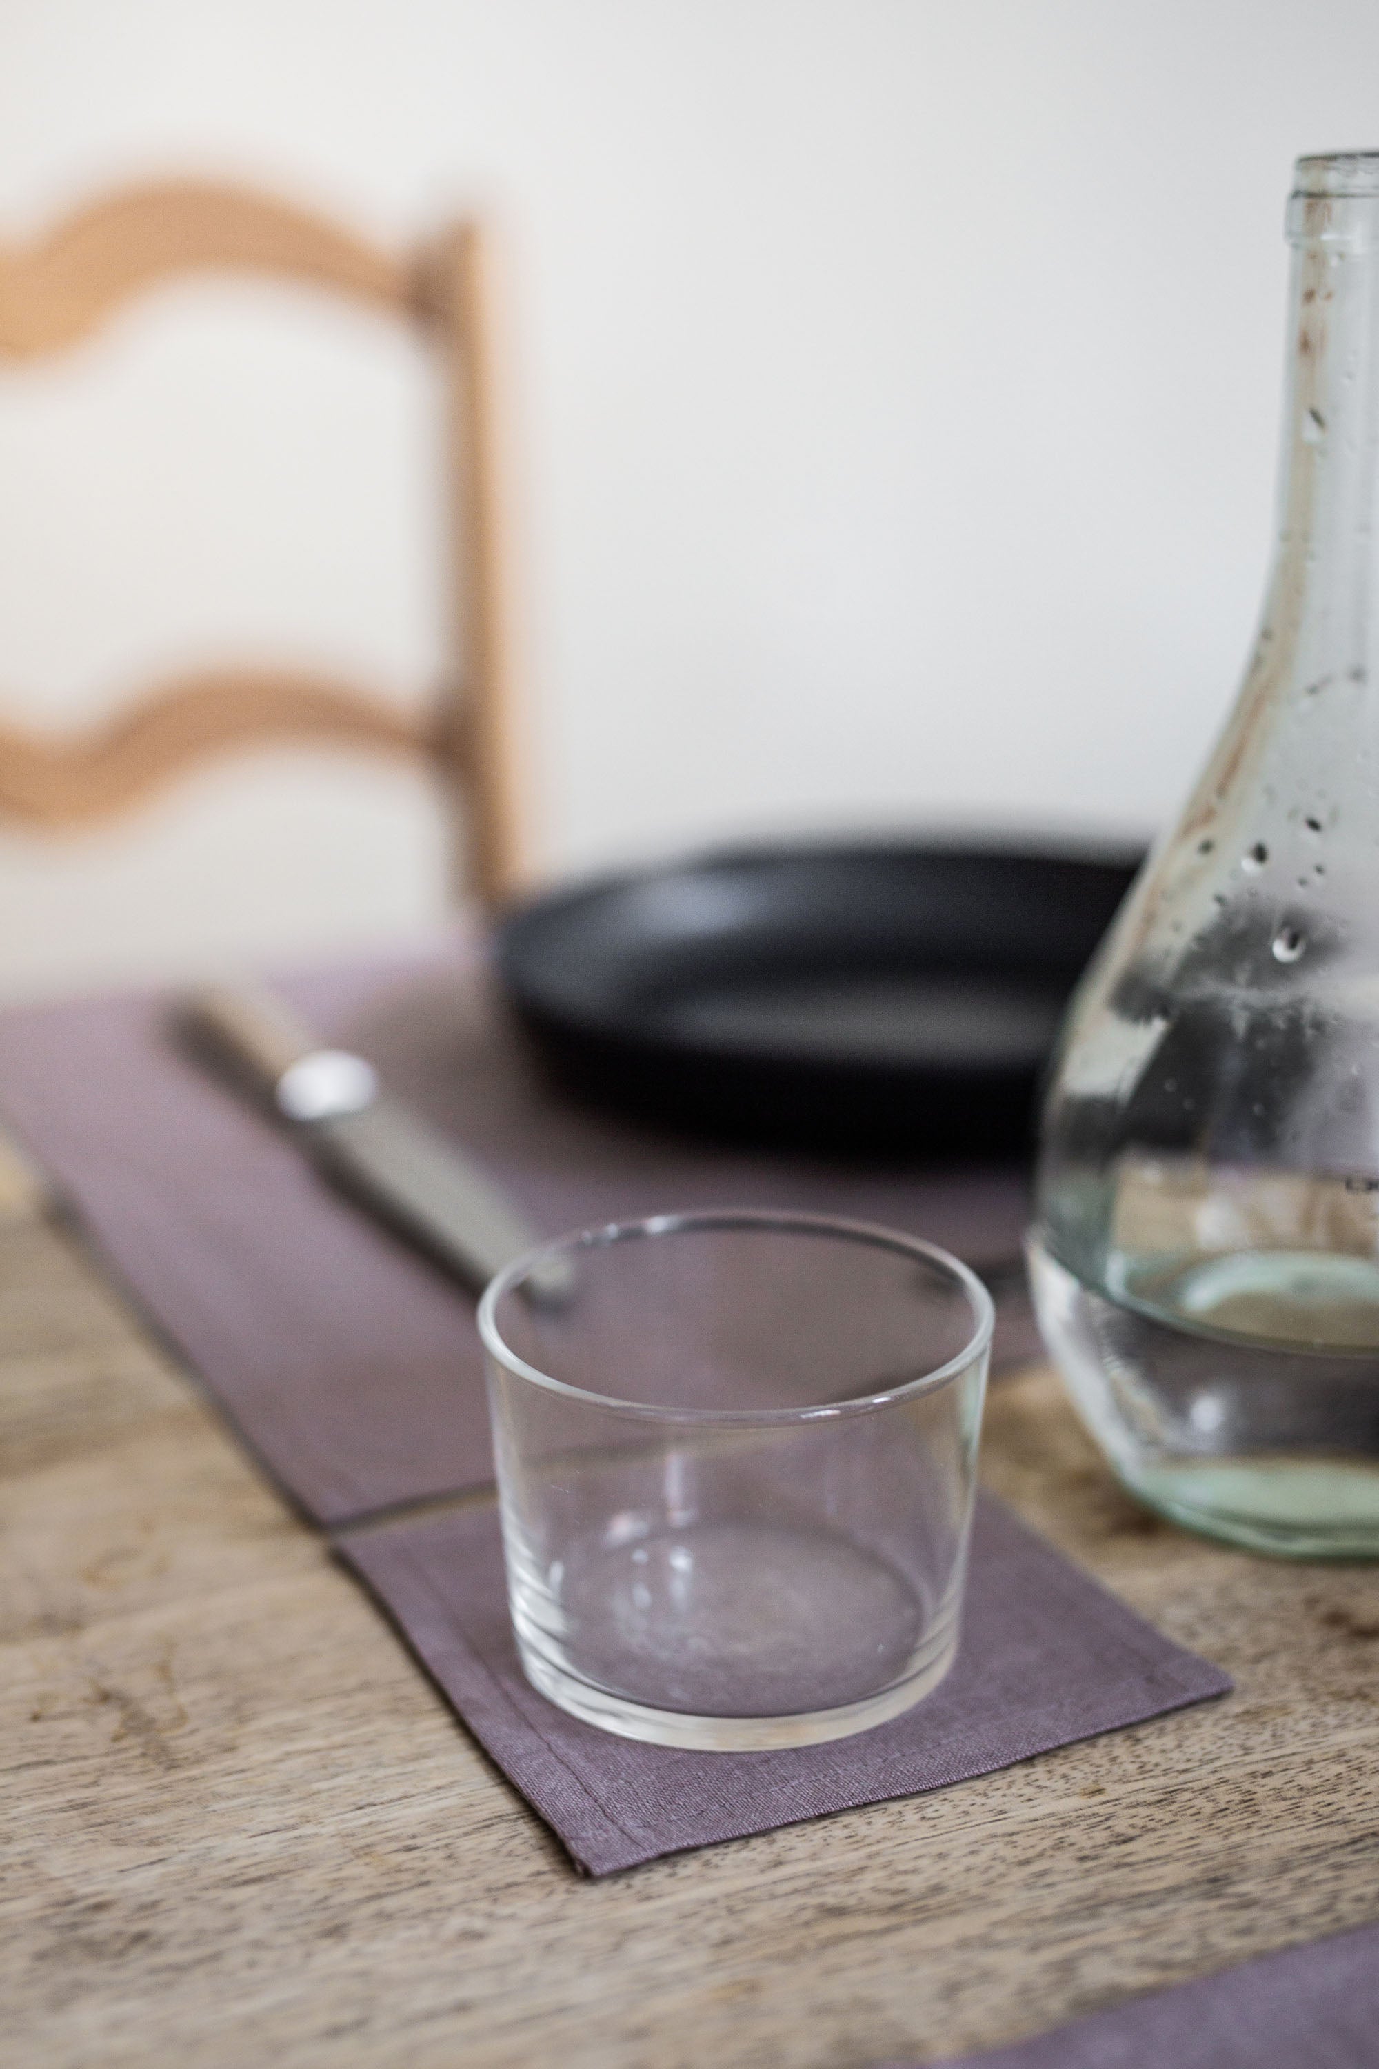
[[[211,987],[186,1001],[198,1047],[265,1095],[320,1171],[465,1285],[540,1243],[502,1192],[347,1049],[325,1049],[265,991]]]

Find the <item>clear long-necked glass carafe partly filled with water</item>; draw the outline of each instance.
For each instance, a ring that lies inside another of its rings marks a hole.
[[[1305,157],[1280,538],[1245,687],[1081,985],[1034,1291],[1121,1479],[1379,1556],[1379,153]]]

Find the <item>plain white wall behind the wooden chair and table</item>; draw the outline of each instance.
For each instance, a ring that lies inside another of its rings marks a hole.
[[[509,221],[552,869],[773,830],[1150,828],[1269,538],[1282,203],[1379,143],[1362,0],[6,0],[0,236],[250,176]],[[186,286],[0,368],[0,699],[436,662],[426,372]],[[223,768],[0,838],[0,985],[418,929],[434,799]]]

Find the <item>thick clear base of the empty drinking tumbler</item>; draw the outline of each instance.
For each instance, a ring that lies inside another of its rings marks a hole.
[[[924,1661],[893,1688],[841,1703],[837,1709],[802,1711],[790,1717],[695,1717],[676,1709],[651,1709],[579,1680],[519,1641],[527,1680],[544,1697],[583,1723],[595,1723],[618,1738],[639,1738],[649,1746],[684,1746],[691,1752],[775,1752],[784,1746],[821,1746],[831,1738],[852,1738],[889,1723],[930,1695],[953,1666],[957,1620],[930,1635]]]

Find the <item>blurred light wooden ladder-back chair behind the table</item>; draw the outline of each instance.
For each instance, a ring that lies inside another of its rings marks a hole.
[[[424,720],[292,668],[217,668],[163,683],[108,724],[66,739],[0,720],[0,819],[85,826],[248,745],[320,741],[424,757],[463,794],[465,879],[496,904],[519,883],[525,854],[484,230],[459,221],[397,257],[250,190],[141,186],[97,201],[37,244],[0,246],[0,364],[58,352],[143,288],[205,271],[310,281],[391,310],[436,352],[449,397],[438,434],[453,476],[455,664]]]

